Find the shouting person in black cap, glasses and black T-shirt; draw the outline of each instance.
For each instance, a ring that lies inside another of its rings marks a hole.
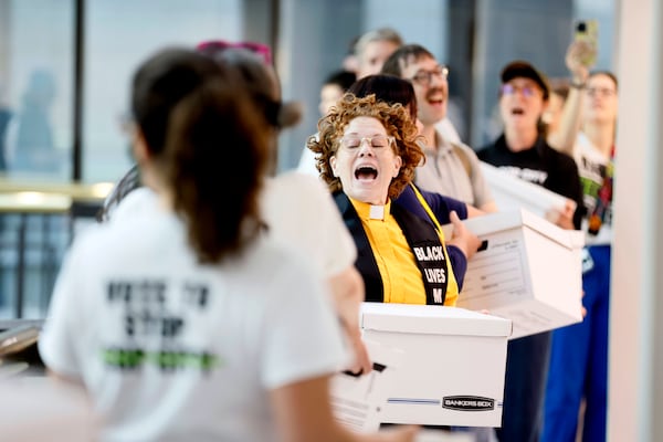
[[[549,219],[561,228],[579,229],[583,204],[578,168],[572,158],[547,144],[543,131],[541,114],[550,95],[546,76],[525,61],[514,61],[502,70],[501,78],[504,133],[480,149],[478,158],[575,201],[575,211],[568,204]],[[508,343],[501,441],[538,441],[549,356],[549,332]]]

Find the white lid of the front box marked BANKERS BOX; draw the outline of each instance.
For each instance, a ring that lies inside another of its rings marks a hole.
[[[512,322],[459,307],[362,303],[361,328],[427,335],[508,337]]]

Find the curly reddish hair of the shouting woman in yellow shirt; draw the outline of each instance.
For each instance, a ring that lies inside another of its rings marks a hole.
[[[400,103],[389,105],[376,99],[373,94],[358,98],[347,93],[333,106],[329,113],[318,122],[318,135],[308,138],[306,146],[316,154],[316,167],[320,178],[332,192],[343,190],[340,179],[332,172],[329,159],[336,155],[345,128],[357,117],[378,119],[387,134],[396,139],[393,152],[401,157],[400,171],[389,185],[389,198],[397,198],[406,186],[414,179],[414,168],[424,159],[419,144],[417,125],[410,113]]]

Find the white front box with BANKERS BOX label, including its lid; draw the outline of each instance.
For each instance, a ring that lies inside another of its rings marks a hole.
[[[364,338],[403,351],[379,387],[382,423],[499,427],[511,320],[463,308],[364,303]]]

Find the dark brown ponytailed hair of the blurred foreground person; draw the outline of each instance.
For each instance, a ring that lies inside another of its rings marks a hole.
[[[134,117],[202,263],[240,252],[263,225],[267,135],[234,84],[213,60],[186,49],[158,52],[134,76]]]

